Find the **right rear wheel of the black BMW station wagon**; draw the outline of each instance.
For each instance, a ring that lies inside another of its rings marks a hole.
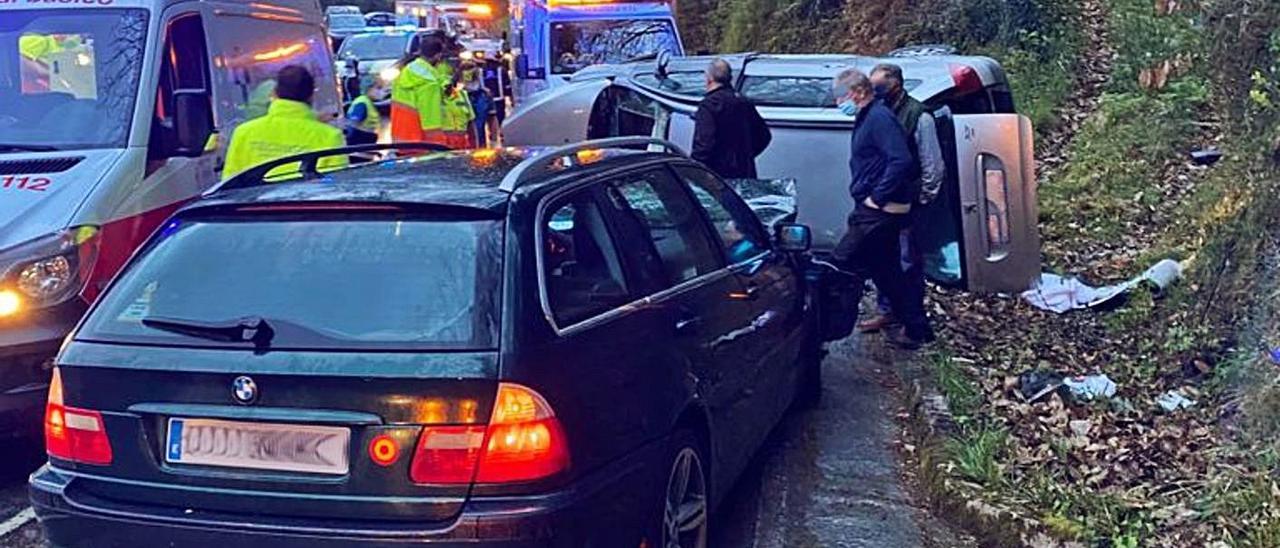
[[[667,480],[662,496],[662,521],[658,548],[707,548],[707,520],[710,515],[707,467],[698,438],[680,430],[672,438],[667,456]]]

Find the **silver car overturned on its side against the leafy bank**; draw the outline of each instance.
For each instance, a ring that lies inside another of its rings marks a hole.
[[[1030,120],[1019,115],[1004,69],[993,59],[946,49],[858,55],[726,56],[736,88],[773,131],[759,157],[762,178],[795,179],[797,222],[813,229],[814,250],[829,251],[852,210],[849,141],[852,119],[831,95],[832,79],[854,67],[902,68],[905,87],[937,120],[948,174],[922,234],[925,271],[942,284],[978,292],[1018,292],[1039,273],[1036,166]],[[522,106],[504,125],[511,145],[561,145],[617,136],[654,136],[691,146],[694,111],[712,58],[669,58],[584,69],[568,86]]]

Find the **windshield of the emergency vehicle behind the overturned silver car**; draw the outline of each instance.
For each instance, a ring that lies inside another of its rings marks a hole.
[[[662,51],[680,54],[669,19],[598,19],[552,26],[552,73],[572,74],[603,63],[625,63]]]

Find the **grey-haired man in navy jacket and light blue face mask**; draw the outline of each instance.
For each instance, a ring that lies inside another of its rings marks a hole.
[[[890,343],[919,348],[933,338],[924,303],[902,283],[899,233],[908,225],[920,187],[908,133],[897,117],[876,97],[872,82],[858,69],[846,69],[832,86],[841,113],[854,118],[850,143],[849,192],[854,211],[849,230],[832,252],[844,270],[856,275],[854,291],[861,301],[863,280],[870,278],[892,309],[902,314],[901,332],[888,332]]]

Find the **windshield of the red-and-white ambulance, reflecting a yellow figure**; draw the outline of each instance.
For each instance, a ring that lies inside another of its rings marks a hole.
[[[0,141],[58,149],[127,146],[146,51],[146,10],[3,13]]]

